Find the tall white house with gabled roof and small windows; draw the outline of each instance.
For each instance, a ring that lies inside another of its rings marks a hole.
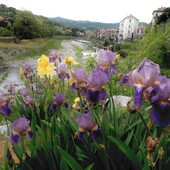
[[[139,20],[133,15],[129,15],[120,21],[118,36],[119,42],[137,36],[138,23]]]

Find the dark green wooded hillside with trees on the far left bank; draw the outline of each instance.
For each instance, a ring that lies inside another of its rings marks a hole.
[[[65,28],[63,24],[34,15],[30,11],[19,11],[2,4],[0,5],[0,16],[4,17],[4,20],[0,22],[0,27],[9,30],[9,32],[7,30],[3,32],[1,36],[9,36],[10,33],[20,39],[33,39],[67,35],[67,33],[63,33]],[[69,35],[72,35],[72,32]]]

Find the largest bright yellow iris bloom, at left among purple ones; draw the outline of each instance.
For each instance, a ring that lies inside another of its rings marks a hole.
[[[46,57],[45,55],[42,55],[41,58],[39,58],[37,60],[38,62],[38,66],[36,71],[38,72],[38,74],[42,77],[42,76],[47,76],[49,77],[51,75],[51,72],[54,70],[54,65],[52,63],[49,62],[49,58]]]

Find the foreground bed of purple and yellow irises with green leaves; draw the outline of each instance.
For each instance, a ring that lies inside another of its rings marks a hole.
[[[115,107],[116,54],[100,50],[87,72],[73,57],[56,50],[42,55],[33,70],[20,68],[25,88],[0,93],[0,112],[11,123],[8,140],[19,161],[4,146],[2,168],[14,169],[166,169],[170,161],[170,79],[159,65],[143,60],[120,85],[134,96]]]

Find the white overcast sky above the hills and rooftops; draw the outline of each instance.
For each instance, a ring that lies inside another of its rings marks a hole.
[[[170,0],[0,0],[0,4],[46,17],[116,23],[132,14],[150,23],[152,12],[170,7]]]

